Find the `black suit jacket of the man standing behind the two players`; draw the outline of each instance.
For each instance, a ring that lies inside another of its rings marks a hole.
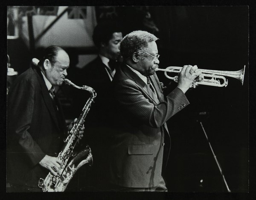
[[[95,102],[84,121],[84,137],[81,143],[83,145],[88,144],[92,150],[93,167],[90,169],[89,182],[100,190],[105,188],[106,181],[109,180],[108,136],[111,132],[111,125],[115,123],[113,120],[111,80],[108,77],[106,67],[98,56],[81,69],[78,81],[80,85],[92,87],[97,93]],[[89,98],[89,94],[78,90],[76,93],[75,106],[81,109]]]

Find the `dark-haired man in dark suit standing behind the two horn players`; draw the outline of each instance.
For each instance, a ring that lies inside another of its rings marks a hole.
[[[95,103],[85,120],[87,136],[84,138],[93,153],[90,183],[96,190],[104,190],[105,182],[108,180],[108,132],[111,131],[110,127],[114,123],[113,107],[111,107],[111,81],[122,61],[120,56],[121,40],[122,29],[119,23],[115,21],[100,22],[93,31],[93,42],[98,48],[99,54],[79,73],[79,83],[92,87],[97,93]],[[89,97],[83,91],[78,91],[78,93],[75,98],[77,103],[74,104],[81,109],[82,103]]]

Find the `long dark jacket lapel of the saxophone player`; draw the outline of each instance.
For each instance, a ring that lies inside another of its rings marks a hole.
[[[59,129],[58,119],[57,119],[56,114],[55,114],[55,108],[53,106],[52,98],[50,97],[49,91],[47,90],[47,86],[45,85],[45,82],[44,82],[43,76],[41,74],[41,71],[38,70],[38,69],[35,69],[35,72],[38,74],[38,82],[41,86],[41,91],[42,91],[42,94],[43,94],[45,105],[46,105],[49,113],[51,114],[54,123],[56,124],[56,126]]]

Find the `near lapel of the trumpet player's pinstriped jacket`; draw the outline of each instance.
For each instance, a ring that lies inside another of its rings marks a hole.
[[[148,94],[148,97],[150,97],[151,100],[153,100],[156,104],[160,103],[150,87],[134,71],[129,69],[126,65],[122,66],[122,70],[128,77],[134,80],[143,89],[143,91],[145,91],[146,94]]]

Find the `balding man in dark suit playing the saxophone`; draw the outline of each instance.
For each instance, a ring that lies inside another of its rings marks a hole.
[[[7,97],[7,191],[41,191],[38,180],[60,172],[57,154],[66,127],[54,86],[67,76],[70,59],[58,46],[49,46],[38,66],[31,66],[12,84]],[[84,127],[79,131],[83,136]]]

